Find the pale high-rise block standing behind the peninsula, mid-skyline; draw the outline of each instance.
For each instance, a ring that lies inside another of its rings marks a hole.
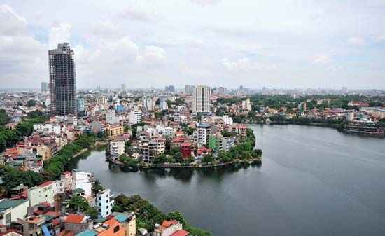
[[[199,85],[193,90],[193,112],[209,113],[210,112],[210,94],[209,86]]]

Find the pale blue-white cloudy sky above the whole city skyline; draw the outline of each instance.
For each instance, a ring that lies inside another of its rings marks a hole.
[[[385,0],[0,0],[0,88],[385,88]]]

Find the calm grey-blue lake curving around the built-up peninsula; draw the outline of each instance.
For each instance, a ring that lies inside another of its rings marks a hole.
[[[214,235],[384,235],[385,139],[325,127],[248,125],[262,164],[124,172],[92,151],[73,167],[114,193],[179,210]]]

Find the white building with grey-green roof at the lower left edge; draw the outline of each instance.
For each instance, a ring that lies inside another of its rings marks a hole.
[[[0,200],[0,225],[10,225],[11,221],[24,218],[27,215],[29,203],[27,200]]]

